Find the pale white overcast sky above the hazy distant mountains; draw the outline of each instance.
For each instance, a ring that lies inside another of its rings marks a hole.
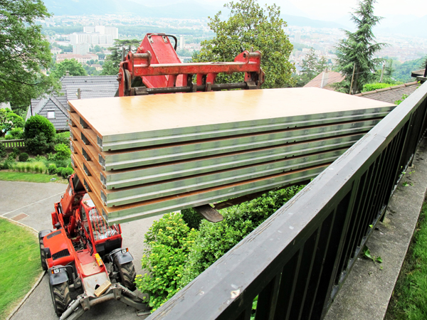
[[[228,1],[203,0],[203,2],[224,4]],[[334,21],[347,16],[357,5],[357,0],[258,0],[258,3],[275,3],[281,7],[283,14]],[[377,16],[413,15],[421,17],[427,15],[426,0],[378,0],[374,8]]]

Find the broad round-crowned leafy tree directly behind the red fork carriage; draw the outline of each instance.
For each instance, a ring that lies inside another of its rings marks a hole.
[[[256,0],[231,1],[228,20],[221,20],[221,11],[209,17],[209,27],[216,34],[201,42],[201,51],[194,62],[233,61],[243,50],[260,50],[265,72],[263,87],[287,87],[294,84],[295,65],[289,62],[292,44],[283,31],[287,26],[280,18],[280,8],[273,4],[263,9]],[[238,82],[243,75],[218,75],[217,82]]]

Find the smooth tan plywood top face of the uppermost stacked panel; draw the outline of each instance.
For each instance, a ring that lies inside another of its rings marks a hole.
[[[317,88],[195,92],[68,103],[100,137],[394,106]]]

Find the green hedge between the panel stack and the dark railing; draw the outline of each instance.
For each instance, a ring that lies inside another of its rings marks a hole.
[[[167,214],[154,221],[145,235],[142,257],[142,268],[147,273],[136,279],[139,290],[149,294],[149,305],[155,310],[164,304],[302,188],[292,186],[270,191],[252,201],[220,210],[224,219],[219,223],[207,220],[200,223],[194,210]],[[199,226],[199,230],[194,226]]]

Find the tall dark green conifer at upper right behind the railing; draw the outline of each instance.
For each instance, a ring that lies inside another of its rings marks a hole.
[[[376,66],[383,61],[374,58],[375,53],[387,46],[386,43],[376,43],[372,28],[381,20],[374,16],[374,3],[376,0],[361,0],[356,11],[352,14],[352,21],[356,24],[357,31],[344,30],[346,38],[339,41],[337,49],[338,70],[345,79],[336,86],[344,92],[349,92],[355,66],[352,93],[362,90],[364,84],[372,80]]]

